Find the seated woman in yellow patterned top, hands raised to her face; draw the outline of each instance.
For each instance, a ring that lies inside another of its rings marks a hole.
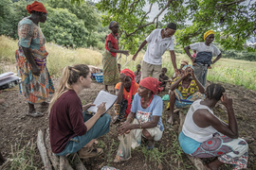
[[[167,108],[170,108],[171,116],[168,123],[174,124],[174,106],[176,108],[185,108],[191,105],[194,100],[203,98],[204,93],[205,88],[194,76],[192,65],[185,65],[182,68],[182,76],[175,77],[170,86],[170,103]]]

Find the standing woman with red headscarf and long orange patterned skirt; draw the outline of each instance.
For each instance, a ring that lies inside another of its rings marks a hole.
[[[29,110],[27,115],[43,116],[34,108],[41,104],[47,108],[46,99],[49,93],[54,93],[53,83],[46,68],[46,37],[39,23],[46,23],[47,11],[42,3],[35,1],[27,6],[31,15],[22,19],[18,25],[19,49],[15,52],[18,76],[22,78],[19,84],[20,93],[27,99]]]

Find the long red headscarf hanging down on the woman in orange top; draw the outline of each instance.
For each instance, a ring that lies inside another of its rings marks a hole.
[[[133,93],[134,93],[134,90],[135,90],[135,74],[134,72],[132,72],[131,70],[129,69],[123,69],[120,74],[124,74],[125,76],[130,76],[132,78],[132,83],[131,83],[131,87],[130,87],[130,93],[129,93],[129,98],[128,98],[128,106],[127,106],[127,109],[125,110],[126,112],[126,116],[128,116],[128,114],[130,113],[131,111],[131,106],[132,106],[132,98],[133,98]]]

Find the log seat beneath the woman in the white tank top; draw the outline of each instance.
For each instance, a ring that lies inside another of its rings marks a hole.
[[[179,120],[180,120],[180,123],[179,123],[179,127],[178,127],[178,134],[182,130],[185,118],[186,118],[186,116],[184,115],[183,110],[179,110]],[[196,167],[196,169],[198,169],[198,170],[206,170],[206,167],[205,167],[205,165],[204,165],[204,163],[203,163],[203,161],[201,159],[196,158],[196,157],[192,157],[192,156],[190,156],[188,154],[186,154],[186,155],[189,158],[189,160],[192,161],[192,164]]]

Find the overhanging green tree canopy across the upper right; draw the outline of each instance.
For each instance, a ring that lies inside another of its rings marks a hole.
[[[74,0],[82,1],[82,0]],[[146,4],[149,11],[144,11]],[[149,21],[148,14],[157,3],[159,13]],[[182,46],[203,40],[203,34],[215,30],[215,41],[225,49],[244,49],[244,43],[256,36],[256,3],[253,0],[101,0],[97,5],[103,13],[102,25],[119,22],[120,42],[134,53],[137,42],[143,40],[158,25],[159,15],[165,11],[161,22],[176,23],[176,42]],[[192,26],[185,26],[186,21]],[[248,51],[255,48],[247,47]]]

